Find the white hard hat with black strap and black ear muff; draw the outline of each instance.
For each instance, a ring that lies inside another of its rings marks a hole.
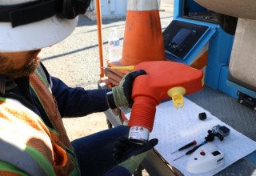
[[[77,26],[78,14],[86,12],[90,0],[83,1],[82,10],[75,11],[75,3],[81,1],[63,5],[59,0],[0,0],[0,52],[37,50],[61,42]]]

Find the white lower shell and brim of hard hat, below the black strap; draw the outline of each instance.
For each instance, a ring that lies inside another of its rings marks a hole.
[[[39,22],[12,27],[0,22],[0,52],[38,50],[67,38],[78,24],[78,17],[64,19],[53,16]]]

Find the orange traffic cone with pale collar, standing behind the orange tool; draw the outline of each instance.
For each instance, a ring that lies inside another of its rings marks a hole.
[[[129,0],[122,49],[123,66],[166,60],[157,0]]]

